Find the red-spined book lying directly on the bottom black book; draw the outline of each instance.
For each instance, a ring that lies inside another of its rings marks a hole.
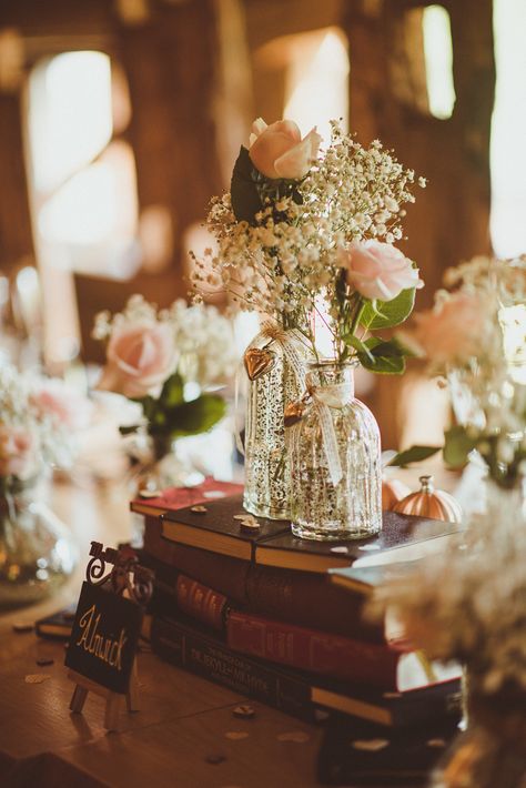
[[[237,610],[229,614],[226,643],[233,651],[395,693],[461,674],[459,666],[437,666],[422,651],[401,651],[390,644],[354,640]]]

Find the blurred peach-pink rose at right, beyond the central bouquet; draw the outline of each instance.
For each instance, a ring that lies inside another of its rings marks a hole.
[[[477,295],[453,293],[433,310],[414,315],[411,341],[435,364],[463,363],[481,352],[488,314],[488,305]]]

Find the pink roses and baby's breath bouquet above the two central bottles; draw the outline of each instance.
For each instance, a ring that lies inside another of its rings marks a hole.
[[[399,374],[409,352],[373,332],[402,323],[423,286],[393,245],[403,238],[404,205],[415,199],[415,173],[377,140],[363,148],[337,121],[321,155],[320,142],[315,129],[302,139],[292,121],[254,122],[231,191],[212,200],[208,226],[218,251],[195,260],[194,286],[222,286],[237,306],[297,330],[314,353],[318,312],[337,361],[356,357]]]

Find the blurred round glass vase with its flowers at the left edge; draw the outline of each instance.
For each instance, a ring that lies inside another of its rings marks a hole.
[[[60,380],[0,365],[0,607],[45,597],[71,574],[77,547],[45,505],[53,468],[68,468],[90,403]]]

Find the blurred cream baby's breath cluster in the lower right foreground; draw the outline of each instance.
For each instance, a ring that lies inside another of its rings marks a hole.
[[[526,512],[515,496],[492,485],[464,544],[421,562],[376,597],[401,613],[416,647],[465,661],[487,694],[526,690]]]

